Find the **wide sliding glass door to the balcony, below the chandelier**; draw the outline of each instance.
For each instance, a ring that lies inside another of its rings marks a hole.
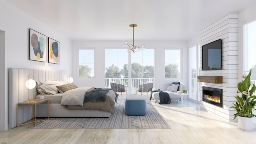
[[[154,58],[154,49],[129,54],[124,48],[106,48],[106,88],[114,89],[121,96],[126,96],[129,92],[149,96],[147,90],[154,88],[146,88],[144,84],[154,83]]]

